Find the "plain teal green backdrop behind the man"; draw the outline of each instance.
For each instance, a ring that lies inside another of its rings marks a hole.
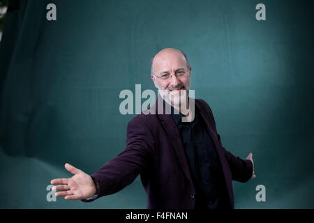
[[[186,52],[223,146],[253,153],[257,178],[234,182],[235,208],[314,208],[313,10],[313,1],[9,1],[0,208],[146,208],[140,178],[92,203],[48,202],[46,187],[71,176],[66,162],[92,174],[124,149],[135,115],[120,114],[119,93],[155,89],[151,56],[165,47]]]

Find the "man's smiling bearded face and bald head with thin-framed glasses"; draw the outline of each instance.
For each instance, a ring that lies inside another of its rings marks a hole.
[[[171,105],[178,106],[180,102],[186,102],[190,89],[191,69],[181,51],[163,49],[154,57],[151,79],[163,99]]]

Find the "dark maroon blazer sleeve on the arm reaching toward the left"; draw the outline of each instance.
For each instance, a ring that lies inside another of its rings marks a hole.
[[[114,194],[145,171],[154,158],[154,137],[144,118],[135,116],[127,127],[126,147],[91,177],[98,183],[98,197]]]

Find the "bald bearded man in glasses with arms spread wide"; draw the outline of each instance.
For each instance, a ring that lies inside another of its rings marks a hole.
[[[234,208],[232,180],[255,178],[252,153],[241,160],[223,148],[209,105],[188,97],[191,70],[184,52],[158,52],[151,60],[159,92],[154,112],[128,123],[124,151],[91,176],[66,164],[74,176],[51,181],[59,184],[56,196],[93,201],[140,174],[147,208]]]

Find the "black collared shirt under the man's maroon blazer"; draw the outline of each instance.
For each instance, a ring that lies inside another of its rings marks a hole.
[[[182,122],[183,114],[171,107],[195,185],[195,208],[230,208],[223,169],[206,123],[195,106],[192,122]]]

